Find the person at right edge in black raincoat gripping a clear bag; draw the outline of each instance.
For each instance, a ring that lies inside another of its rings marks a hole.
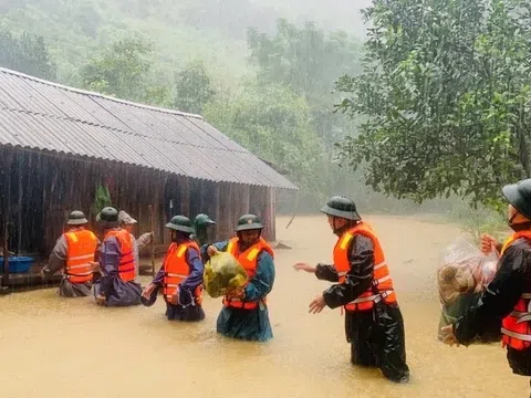
[[[445,326],[448,345],[470,345],[482,332],[501,321],[502,345],[513,374],[531,376],[531,179],[502,189],[509,202],[508,224],[512,235],[500,244],[482,237],[483,251],[501,254],[494,279],[483,292],[479,305]]]

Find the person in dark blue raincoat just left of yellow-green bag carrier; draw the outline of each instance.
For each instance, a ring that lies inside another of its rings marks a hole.
[[[171,244],[163,266],[142,293],[142,303],[153,305],[162,287],[168,321],[201,321],[205,318],[201,306],[204,264],[199,247],[190,238],[194,233],[191,221],[185,216],[175,216],[166,228],[171,231]]]

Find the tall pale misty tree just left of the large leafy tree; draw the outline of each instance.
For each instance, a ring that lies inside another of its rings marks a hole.
[[[301,28],[279,19],[277,33],[248,32],[251,62],[261,84],[283,84],[306,98],[311,122],[323,144],[331,149],[352,125],[333,114],[332,91],[341,74],[360,71],[361,45],[345,32],[325,33],[313,22]]]

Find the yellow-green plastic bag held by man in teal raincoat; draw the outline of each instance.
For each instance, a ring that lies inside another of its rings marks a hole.
[[[247,284],[247,272],[230,253],[212,255],[205,264],[205,289],[210,297],[220,297]]]

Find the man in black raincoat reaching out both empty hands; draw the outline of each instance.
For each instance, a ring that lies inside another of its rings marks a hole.
[[[335,284],[310,303],[310,312],[343,307],[352,363],[378,367],[388,380],[408,381],[404,320],[376,232],[348,198],[333,197],[321,211],[337,237],[334,263],[296,263],[294,269]]]

